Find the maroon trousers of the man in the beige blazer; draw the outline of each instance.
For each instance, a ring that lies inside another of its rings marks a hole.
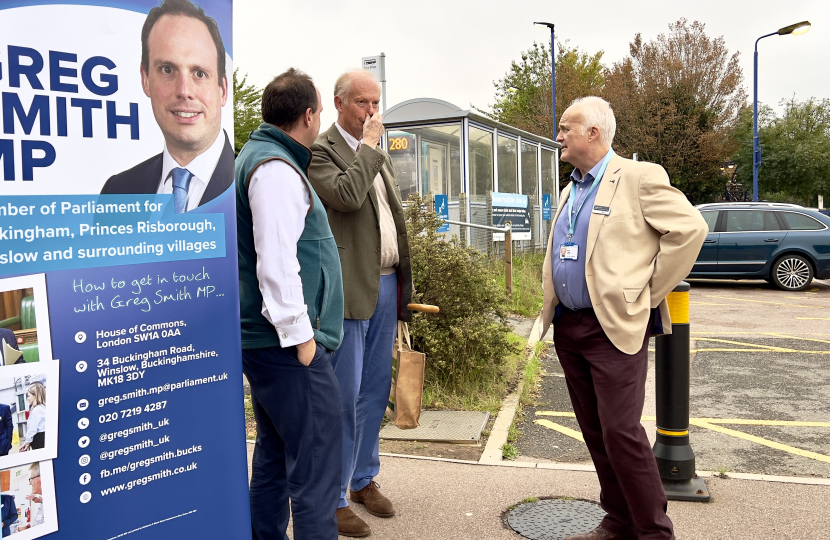
[[[600,504],[607,512],[602,527],[640,540],[669,540],[673,527],[666,515],[666,495],[640,424],[649,334],[640,351],[628,355],[611,343],[593,310],[563,309],[553,336],[599,477]]]

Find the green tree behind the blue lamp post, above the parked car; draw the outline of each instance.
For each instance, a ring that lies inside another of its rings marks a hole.
[[[758,111],[762,162],[758,170],[761,199],[813,205],[816,195],[830,196],[830,99],[796,101],[778,116],[770,107]],[[736,129],[738,181],[752,186],[752,110]]]

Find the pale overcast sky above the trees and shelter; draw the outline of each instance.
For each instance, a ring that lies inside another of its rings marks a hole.
[[[337,118],[334,81],[360,67],[361,58],[386,54],[387,107],[431,97],[462,109],[489,109],[493,82],[534,41],[557,40],[588,53],[604,51],[606,65],[628,55],[640,33],[650,41],[685,17],[723,36],[740,52],[744,87],[752,101],[755,40],[809,20],[800,36],[771,36],[759,43],[758,100],[780,111],[783,99],[830,98],[828,0],[234,0],[234,65],[263,87],[289,67],[312,76],[323,96],[322,129]],[[558,111],[561,115],[562,111]]]

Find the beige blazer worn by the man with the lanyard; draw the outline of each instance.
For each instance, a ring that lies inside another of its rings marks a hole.
[[[554,223],[570,189],[568,184],[562,191]],[[594,204],[611,211],[602,215],[585,207],[580,213],[581,219],[590,216],[588,243],[579,250],[588,293],[611,343],[634,354],[643,345],[651,308],[660,308],[660,333],[671,333],[666,296],[689,274],[708,228],[686,196],[669,184],[663,167],[617,155],[608,163]],[[551,267],[559,246],[552,244],[553,228],[542,269],[542,335],[559,303]]]

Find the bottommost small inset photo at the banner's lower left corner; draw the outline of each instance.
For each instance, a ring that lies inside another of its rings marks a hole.
[[[36,461],[0,471],[3,538],[40,538],[58,530],[51,461]]]

